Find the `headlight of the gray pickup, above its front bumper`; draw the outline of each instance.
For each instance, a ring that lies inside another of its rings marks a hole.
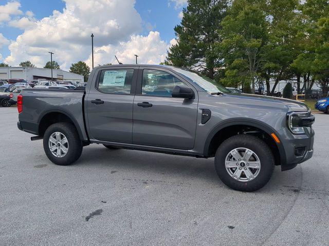
[[[305,133],[304,127],[310,127],[314,123],[314,115],[308,116],[307,112],[289,112],[287,113],[287,125],[294,134]]]

